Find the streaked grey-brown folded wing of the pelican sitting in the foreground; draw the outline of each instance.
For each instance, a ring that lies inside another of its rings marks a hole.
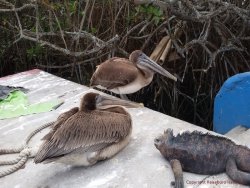
[[[35,163],[71,152],[101,150],[124,139],[131,131],[128,114],[92,111],[78,112],[66,120],[39,148]]]

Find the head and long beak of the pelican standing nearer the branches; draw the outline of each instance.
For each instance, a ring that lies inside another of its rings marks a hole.
[[[177,81],[177,78],[170,74],[167,70],[158,65],[155,61],[150,59],[146,54],[144,54],[141,50],[133,51],[129,60],[133,62],[139,69],[144,71],[151,71],[153,73],[159,73],[163,76],[166,76],[174,81]]]

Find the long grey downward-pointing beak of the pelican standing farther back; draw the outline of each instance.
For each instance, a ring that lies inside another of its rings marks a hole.
[[[150,70],[153,70],[154,72],[157,72],[163,76],[166,76],[174,81],[177,81],[177,78],[169,73],[167,70],[165,70],[163,67],[158,65],[155,61],[150,59],[146,54],[141,54],[141,56],[138,58],[138,65],[142,67],[147,67]]]

